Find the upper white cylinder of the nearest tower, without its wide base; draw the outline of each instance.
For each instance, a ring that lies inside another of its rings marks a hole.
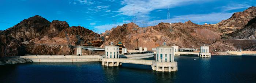
[[[162,46],[158,46],[156,51],[156,62],[174,61],[174,49],[173,47],[166,46],[166,42],[163,42]]]

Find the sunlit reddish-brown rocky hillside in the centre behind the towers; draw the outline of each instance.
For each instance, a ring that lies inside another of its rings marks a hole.
[[[127,49],[136,49],[138,42],[139,47],[147,47],[148,50],[162,45],[163,42],[167,42],[169,46],[176,44],[181,48],[199,48],[204,43],[215,42],[222,35],[220,33],[222,29],[218,30],[211,25],[197,25],[191,21],[172,25],[160,23],[147,28],[140,28],[134,23],[129,23],[117,26],[110,31],[109,35],[106,35],[109,38],[105,45],[112,41],[122,42]]]

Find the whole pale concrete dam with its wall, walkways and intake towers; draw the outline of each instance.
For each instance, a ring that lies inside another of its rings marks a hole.
[[[199,57],[210,57],[209,47],[202,46],[199,53],[196,52],[180,52],[178,46],[166,46],[164,42],[162,46],[156,47],[155,60],[145,60],[143,58],[154,57],[154,52],[140,49],[138,52],[127,53],[121,51],[119,54],[119,47],[113,45],[113,42],[109,46],[104,48],[94,47],[77,47],[78,54],[82,54],[82,49],[102,50],[104,49],[104,55],[25,55],[20,58],[30,59],[33,62],[101,62],[102,66],[121,66],[122,63],[150,65],[152,70],[155,71],[177,71],[178,65],[174,61],[174,55],[181,54],[194,54]],[[142,47],[140,47],[142,48]],[[123,50],[126,48],[122,48]]]

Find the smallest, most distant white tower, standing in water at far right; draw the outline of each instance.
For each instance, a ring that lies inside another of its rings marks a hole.
[[[201,46],[200,47],[200,53],[199,53],[199,57],[211,57],[211,53],[209,51],[209,46]]]

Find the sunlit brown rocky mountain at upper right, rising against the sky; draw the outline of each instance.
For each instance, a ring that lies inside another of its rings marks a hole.
[[[218,26],[243,28],[248,21],[256,17],[256,7],[250,7],[243,12],[236,12],[227,20],[219,22]]]

